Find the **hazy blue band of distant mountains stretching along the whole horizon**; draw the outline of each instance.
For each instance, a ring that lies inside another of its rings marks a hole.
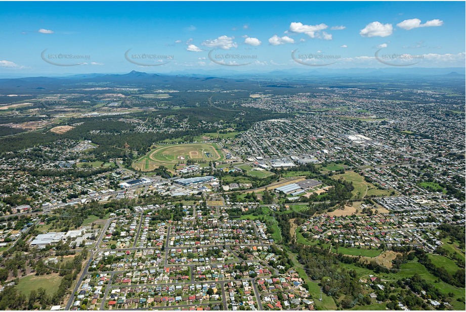
[[[221,78],[222,77],[222,78]],[[412,68],[409,71],[397,68],[384,69],[348,69],[348,70],[305,70],[292,69],[268,73],[244,73],[229,71],[198,71],[178,74],[155,74],[132,71],[125,74],[77,74],[63,77],[25,77],[0,79],[0,93],[56,93],[93,87],[148,87],[177,89],[241,89],[259,91],[258,88],[277,89],[295,88],[296,84],[322,82],[351,81],[357,79],[365,83],[373,83],[377,79],[403,79],[407,82],[416,79],[465,79],[464,68]],[[317,79],[317,80],[316,80]],[[263,91],[261,89],[260,91]]]

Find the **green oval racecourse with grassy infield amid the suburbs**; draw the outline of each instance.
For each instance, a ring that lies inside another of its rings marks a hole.
[[[221,148],[214,143],[192,143],[158,146],[134,162],[133,167],[151,171],[160,166],[172,169],[178,163],[193,161],[222,161]]]

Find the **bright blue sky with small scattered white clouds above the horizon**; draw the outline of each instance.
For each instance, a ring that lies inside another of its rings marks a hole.
[[[0,74],[465,64],[464,2],[1,6]]]

